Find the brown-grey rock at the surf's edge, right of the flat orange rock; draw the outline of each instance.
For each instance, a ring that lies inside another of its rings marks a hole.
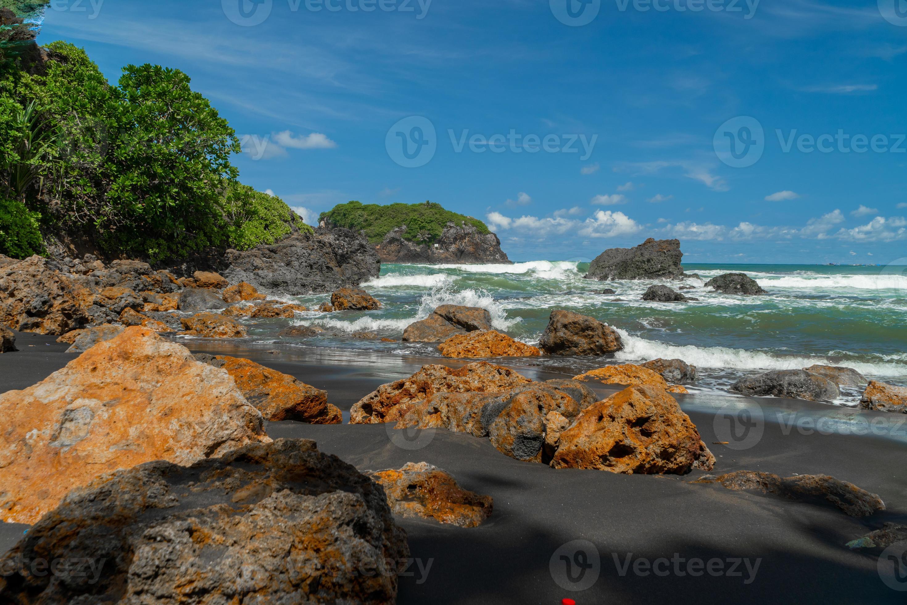
[[[572,311],[551,312],[539,347],[549,355],[602,356],[623,349],[618,331],[595,317]]]

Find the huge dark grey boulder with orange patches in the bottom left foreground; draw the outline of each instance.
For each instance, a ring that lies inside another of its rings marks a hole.
[[[278,440],[73,491],[0,560],[23,570],[0,579],[0,601],[389,605],[408,558],[380,487],[315,442]]]

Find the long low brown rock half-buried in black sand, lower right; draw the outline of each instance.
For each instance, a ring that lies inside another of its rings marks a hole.
[[[706,475],[693,483],[718,483],[734,491],[756,490],[795,502],[831,503],[852,517],[867,517],[885,510],[885,503],[878,495],[824,474],[798,474],[782,479],[771,473],[738,471],[720,477]]]

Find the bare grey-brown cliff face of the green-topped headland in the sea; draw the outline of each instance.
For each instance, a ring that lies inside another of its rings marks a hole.
[[[501,240],[493,233],[479,233],[473,225],[448,222],[441,237],[424,243],[404,239],[406,226],[394,229],[375,246],[381,262],[418,263],[425,265],[483,263],[510,264],[501,249]]]

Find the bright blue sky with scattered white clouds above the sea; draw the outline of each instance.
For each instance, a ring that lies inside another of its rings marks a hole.
[[[327,1],[54,0],[39,41],[189,73],[308,220],[432,200],[519,260],[907,257],[907,0]]]

